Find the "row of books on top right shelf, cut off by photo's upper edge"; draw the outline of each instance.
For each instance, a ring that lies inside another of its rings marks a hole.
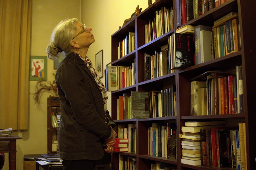
[[[228,0],[176,0],[177,26],[199,17]]]

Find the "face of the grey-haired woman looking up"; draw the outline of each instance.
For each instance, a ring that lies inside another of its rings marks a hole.
[[[73,40],[79,44],[80,48],[88,48],[95,41],[91,33],[92,28],[86,27],[81,22],[76,22],[75,26],[77,31]]]

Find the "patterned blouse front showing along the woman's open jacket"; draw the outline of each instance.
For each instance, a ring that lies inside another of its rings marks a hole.
[[[100,92],[102,94],[103,103],[104,103],[104,110],[105,110],[105,113],[106,113],[106,111],[107,111],[107,100],[108,100],[108,94],[107,94],[106,87],[103,85],[103,83],[100,81],[100,78],[97,76],[96,71],[92,67],[91,60],[87,56],[84,58],[84,57],[79,55],[79,57],[84,61],[84,63],[86,63],[86,65],[89,68],[89,70],[91,71],[92,76],[94,77],[97,85],[100,88]]]

